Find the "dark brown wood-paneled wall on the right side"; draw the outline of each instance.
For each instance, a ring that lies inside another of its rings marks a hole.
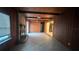
[[[55,17],[54,37],[72,50],[79,49],[79,11],[67,8],[63,15]]]

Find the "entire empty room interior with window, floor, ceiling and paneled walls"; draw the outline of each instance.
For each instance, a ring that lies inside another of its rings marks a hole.
[[[79,8],[0,7],[0,51],[79,51]]]

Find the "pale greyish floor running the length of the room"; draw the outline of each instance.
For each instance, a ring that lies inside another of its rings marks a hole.
[[[56,39],[49,37],[45,33],[29,33],[29,39],[24,44],[14,47],[14,51],[68,51]]]

